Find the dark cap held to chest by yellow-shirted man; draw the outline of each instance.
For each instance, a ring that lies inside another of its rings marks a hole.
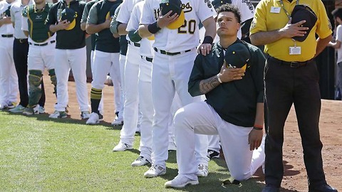
[[[316,21],[317,21],[316,14],[314,13],[314,11],[312,11],[312,9],[310,9],[309,6],[296,5],[294,6],[294,10],[291,13],[291,18],[292,18],[291,23],[298,23],[299,21],[303,21],[303,20],[306,21],[305,23],[303,23],[302,26],[308,27],[309,30],[306,31],[304,36],[293,37],[293,39],[296,41],[301,41],[301,42],[305,41],[311,31],[311,28],[313,28],[316,24]]]

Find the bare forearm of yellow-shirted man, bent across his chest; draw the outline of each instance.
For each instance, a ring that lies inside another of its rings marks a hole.
[[[269,43],[273,43],[283,38],[282,33],[279,30],[275,31],[259,31],[249,36],[254,46],[263,46]]]

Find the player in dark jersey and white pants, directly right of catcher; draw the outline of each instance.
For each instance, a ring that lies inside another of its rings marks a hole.
[[[50,118],[65,118],[68,105],[68,76],[73,70],[76,82],[76,96],[81,110],[81,118],[88,119],[89,104],[86,76],[86,33],[81,30],[81,16],[85,2],[62,0],[53,4],[46,19],[52,33],[56,32],[56,77],[57,104]],[[68,19],[66,19],[68,18]]]

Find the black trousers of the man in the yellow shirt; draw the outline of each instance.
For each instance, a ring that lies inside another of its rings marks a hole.
[[[323,172],[321,143],[318,129],[321,112],[321,94],[318,87],[316,63],[299,68],[267,58],[265,66],[265,181],[266,185],[280,187],[284,176],[284,124],[292,104],[298,120],[304,164],[309,186],[326,183]],[[300,141],[298,141],[300,142]]]

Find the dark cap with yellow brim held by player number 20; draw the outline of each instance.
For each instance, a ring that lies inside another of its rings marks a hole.
[[[172,11],[173,14],[177,14],[178,18],[176,21],[170,23],[167,28],[176,29],[180,28],[184,24],[185,15],[184,11],[182,10],[182,1],[180,0],[161,0],[160,1],[160,10],[162,10],[162,15],[165,16],[169,11]]]

